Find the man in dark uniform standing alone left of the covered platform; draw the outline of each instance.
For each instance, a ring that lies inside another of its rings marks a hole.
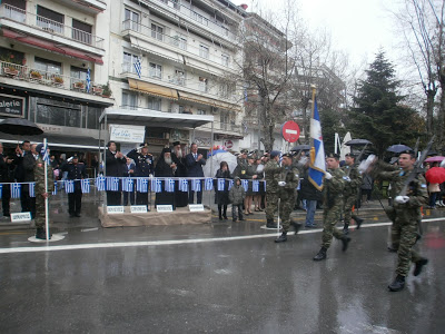
[[[82,207],[82,186],[80,179],[88,178],[87,168],[79,163],[78,156],[62,166],[62,171],[68,171],[67,179],[75,180],[75,191],[68,193],[68,213],[70,217],[80,217]]]

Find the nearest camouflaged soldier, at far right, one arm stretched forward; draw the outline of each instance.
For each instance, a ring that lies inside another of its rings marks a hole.
[[[372,170],[372,175],[382,180],[393,181],[394,193],[400,194],[411,170],[414,168],[415,161],[416,158],[413,151],[404,151],[398,158],[402,170],[385,171],[385,164],[377,161]],[[394,198],[392,239],[397,248],[398,263],[396,269],[397,276],[388,285],[392,292],[397,292],[405,287],[405,277],[409,272],[411,262],[415,263],[413,273],[415,276],[419,275],[422,267],[428,263],[427,258],[419,256],[412,249],[417,240],[421,207],[426,205],[427,200],[426,180],[422,175],[417,175],[408,185],[406,196],[398,195]]]

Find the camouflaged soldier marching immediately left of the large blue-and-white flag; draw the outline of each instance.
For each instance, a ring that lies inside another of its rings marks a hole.
[[[293,166],[293,156],[290,154],[283,155],[281,168],[283,170],[278,176],[279,180],[277,194],[279,198],[279,217],[281,218],[283,233],[275,240],[276,243],[287,242],[287,233],[290,225],[295,228],[295,234],[297,234],[301,228],[301,224],[290,219],[290,213],[293,212],[295,204],[295,189],[299,183],[298,169],[297,167]]]

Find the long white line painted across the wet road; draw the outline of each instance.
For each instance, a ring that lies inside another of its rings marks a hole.
[[[423,219],[422,223],[428,222],[441,222],[445,220],[442,218],[429,218]],[[362,225],[362,228],[388,226],[387,223],[373,223]],[[300,230],[298,234],[319,233],[322,228],[314,228],[308,230]],[[12,254],[12,253],[36,253],[36,252],[56,252],[56,250],[72,250],[72,249],[90,249],[90,248],[118,248],[118,247],[140,247],[140,246],[162,246],[162,245],[185,245],[185,244],[200,244],[200,243],[214,243],[214,242],[230,242],[230,240],[246,240],[246,239],[259,239],[276,237],[278,233],[268,234],[256,234],[245,236],[233,236],[233,237],[220,237],[220,238],[198,238],[198,239],[181,239],[181,240],[160,240],[160,242],[129,242],[129,243],[102,243],[102,244],[77,244],[77,245],[60,245],[60,246],[40,246],[40,247],[13,247],[13,248],[0,248],[0,254]],[[43,240],[44,242],[44,240]]]

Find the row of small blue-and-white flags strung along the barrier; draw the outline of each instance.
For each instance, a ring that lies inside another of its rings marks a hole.
[[[89,179],[81,179],[77,180],[80,181],[80,188],[83,194],[90,193],[90,180]],[[176,189],[176,185],[178,187],[179,191],[187,193],[189,188],[191,188],[192,191],[202,191],[202,183],[204,183],[204,189],[206,191],[212,190],[214,189],[214,179],[211,177],[207,177],[205,179],[186,179],[186,178],[180,178],[179,180],[172,179],[172,178],[166,178],[166,179],[160,179],[160,178],[151,178],[151,184],[148,178],[137,178],[136,179],[136,190],[139,193],[148,193],[149,189],[149,184],[151,186],[151,190],[155,193],[161,193],[161,191],[167,191],[167,193],[174,193]],[[259,191],[259,180],[253,180],[253,191],[258,193]],[[36,197],[34,194],[34,183],[30,183],[29,185],[29,196],[30,197]],[[120,188],[121,185],[121,188]],[[164,187],[162,187],[164,185]],[[3,186],[0,185],[0,198],[2,197],[3,193]],[[75,193],[75,180],[65,180],[63,181],[65,186],[65,191],[67,194]],[[226,181],[224,178],[218,178],[217,179],[217,185],[216,185],[216,190],[218,191],[224,191],[230,190],[230,188],[234,186],[234,180],[229,179]],[[243,179],[241,180],[241,186],[245,188],[247,191],[249,187],[249,180]],[[264,181],[264,186],[266,189],[266,181]],[[135,178],[130,177],[125,177],[125,178],[119,178],[119,177],[97,177],[96,178],[96,187],[99,191],[127,191],[131,193],[135,190]],[[22,185],[21,184],[11,184],[11,198],[20,198],[21,196],[21,189]],[[55,190],[52,191],[52,195],[57,195],[57,183],[55,183]]]

